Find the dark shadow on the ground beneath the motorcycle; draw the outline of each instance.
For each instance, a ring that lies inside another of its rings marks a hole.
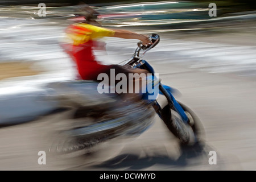
[[[170,169],[170,168],[184,168],[186,166],[193,166],[195,163],[208,164],[208,151],[211,147],[206,146],[206,144],[196,144],[194,147],[180,146],[180,155],[171,156],[167,152],[162,152],[162,154],[146,154],[141,155],[142,152],[138,154],[131,154],[131,152],[121,152],[121,154],[115,156],[112,159],[106,160],[100,164],[92,164],[89,166],[76,166],[69,168],[68,170],[86,170],[88,167],[90,170],[146,170],[153,169],[153,166],[158,170]],[[167,150],[167,148],[165,148]],[[123,153],[123,154],[122,154]],[[149,152],[150,153],[150,152]],[[161,153],[161,152],[160,152]],[[87,156],[88,157],[88,156]]]

